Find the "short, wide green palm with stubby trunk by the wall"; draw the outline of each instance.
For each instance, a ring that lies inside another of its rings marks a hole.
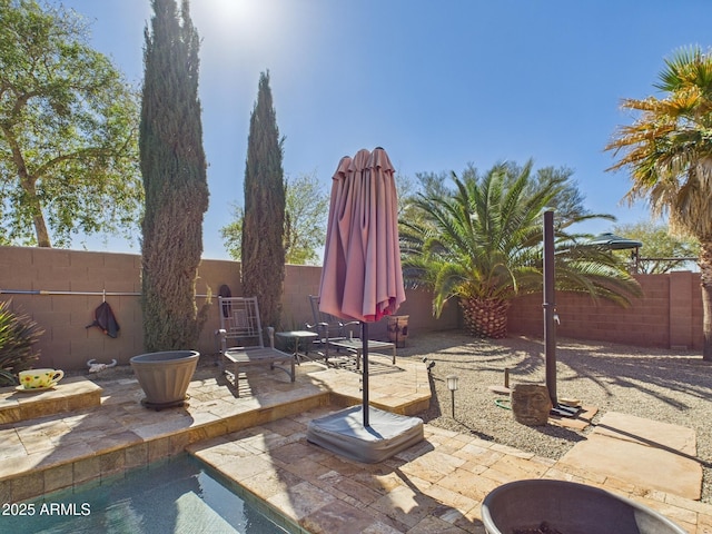
[[[542,291],[542,214],[568,185],[556,175],[540,175],[537,181],[531,170],[530,161],[523,168],[497,165],[482,178],[453,174],[453,195],[419,195],[414,200],[419,217],[400,222],[406,280],[433,289],[436,316],[458,297],[472,335],[504,337],[512,300]],[[556,288],[629,305],[629,297],[641,294],[635,279],[611,254],[564,231],[595,217],[611,218],[580,212],[557,221]]]

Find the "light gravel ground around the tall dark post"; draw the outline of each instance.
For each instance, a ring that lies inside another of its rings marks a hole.
[[[434,396],[421,414],[426,423],[557,459],[583,432],[557,426],[528,427],[512,412],[495,404],[506,398],[488,386],[545,384],[544,343],[508,337],[476,339],[458,332],[441,332],[408,339],[399,357],[435,362],[431,373]],[[621,412],[696,431],[698,457],[703,465],[702,501],[712,502],[712,364],[700,353],[641,348],[597,342],[557,339],[556,393],[599,408],[595,424],[606,412]],[[457,375],[455,418],[445,377]]]

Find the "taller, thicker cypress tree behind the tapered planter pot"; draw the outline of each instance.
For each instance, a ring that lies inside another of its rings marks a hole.
[[[148,352],[197,345],[196,278],[208,209],[198,100],[199,38],[188,0],[151,0],[145,30],[139,148],[146,190],[142,221],[144,343]]]

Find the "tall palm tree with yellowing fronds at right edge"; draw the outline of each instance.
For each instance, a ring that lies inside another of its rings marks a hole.
[[[712,55],[681,49],[665,60],[657,89],[665,98],[626,99],[639,112],[620,127],[606,150],[627,169],[630,201],[646,199],[653,215],[668,215],[670,229],[700,241],[704,347],[712,360]]]

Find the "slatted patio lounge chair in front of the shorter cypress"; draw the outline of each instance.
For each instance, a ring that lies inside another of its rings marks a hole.
[[[218,297],[220,312],[220,354],[226,365],[226,374],[234,377],[235,389],[239,397],[240,369],[251,365],[269,365],[289,375],[295,382],[294,355],[275,348],[275,329],[267,327],[269,346],[263,338],[257,297]],[[237,344],[233,346],[233,344]],[[276,364],[289,364],[288,367]]]

